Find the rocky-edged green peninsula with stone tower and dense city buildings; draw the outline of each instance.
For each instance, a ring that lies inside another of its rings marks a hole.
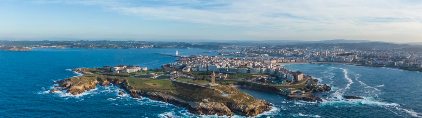
[[[255,59],[207,55],[181,58],[176,63],[164,64],[161,69],[154,70],[119,65],[72,71],[84,76],[54,81],[58,86],[50,92],[66,90],[76,95],[95,89],[97,84],[114,84],[131,97],[148,97],[186,108],[190,113],[205,115],[233,116],[235,113],[256,116],[271,110],[271,103],[256,99],[236,87],[309,102],[323,102],[312,92],[331,90],[326,84],[318,85],[318,80],[300,71],[258,63]]]

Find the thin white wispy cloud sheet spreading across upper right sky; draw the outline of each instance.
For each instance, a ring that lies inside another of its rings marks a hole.
[[[146,20],[241,26],[266,38],[309,34],[422,38],[421,1],[403,0],[41,0],[37,3],[98,5]],[[416,21],[416,22],[415,22]],[[340,35],[341,33],[343,35]],[[334,38],[335,38],[334,37]],[[308,37],[311,38],[311,37]],[[333,37],[331,37],[333,38]],[[357,37],[362,38],[362,37]]]

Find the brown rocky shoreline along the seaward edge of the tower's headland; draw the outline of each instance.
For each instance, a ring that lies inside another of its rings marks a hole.
[[[78,73],[84,73],[84,69],[72,69],[72,71]],[[68,78],[63,79],[60,81],[54,81],[53,83],[58,83],[58,87],[62,87],[61,89],[53,89],[51,92],[56,91],[63,91],[67,90],[67,93],[76,95],[81,94],[82,92],[89,91],[91,89],[95,89],[97,84],[106,86],[108,84],[114,84],[120,86],[127,94],[131,97],[141,98],[141,97],[148,97],[151,100],[157,100],[162,102],[167,102],[172,105],[176,105],[178,107],[185,108],[189,111],[189,113],[197,114],[197,115],[227,115],[233,116],[233,113],[243,116],[256,116],[260,113],[265,111],[271,110],[271,104],[265,102],[265,100],[254,100],[254,102],[245,104],[245,103],[238,103],[238,102],[203,102],[203,101],[187,101],[181,99],[177,96],[177,94],[167,93],[167,92],[160,92],[155,91],[152,89],[136,89],[131,86],[128,86],[127,81],[125,79],[112,79],[112,78],[100,78],[100,77],[92,77],[91,79],[84,79],[78,80],[78,78]],[[124,94],[124,92],[119,92],[120,95]]]

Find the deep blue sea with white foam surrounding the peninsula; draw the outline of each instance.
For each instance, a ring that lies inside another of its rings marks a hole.
[[[35,49],[30,52],[0,51],[0,118],[215,118],[148,98],[119,96],[119,87],[109,84],[76,96],[49,93],[57,81],[78,76],[68,69],[135,65],[160,68],[176,62],[173,55],[217,55],[203,49]],[[215,51],[215,50],[212,50]],[[333,91],[317,93],[325,102],[286,100],[285,97],[241,89],[271,102],[271,111],[256,118],[422,118],[422,73],[398,68],[343,64],[285,65],[328,84]],[[365,97],[341,100],[343,95]],[[338,99],[335,99],[338,97]],[[235,118],[242,116],[236,115]]]

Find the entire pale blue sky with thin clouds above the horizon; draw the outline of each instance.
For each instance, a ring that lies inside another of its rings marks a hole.
[[[422,42],[422,0],[0,0],[0,38]]]

